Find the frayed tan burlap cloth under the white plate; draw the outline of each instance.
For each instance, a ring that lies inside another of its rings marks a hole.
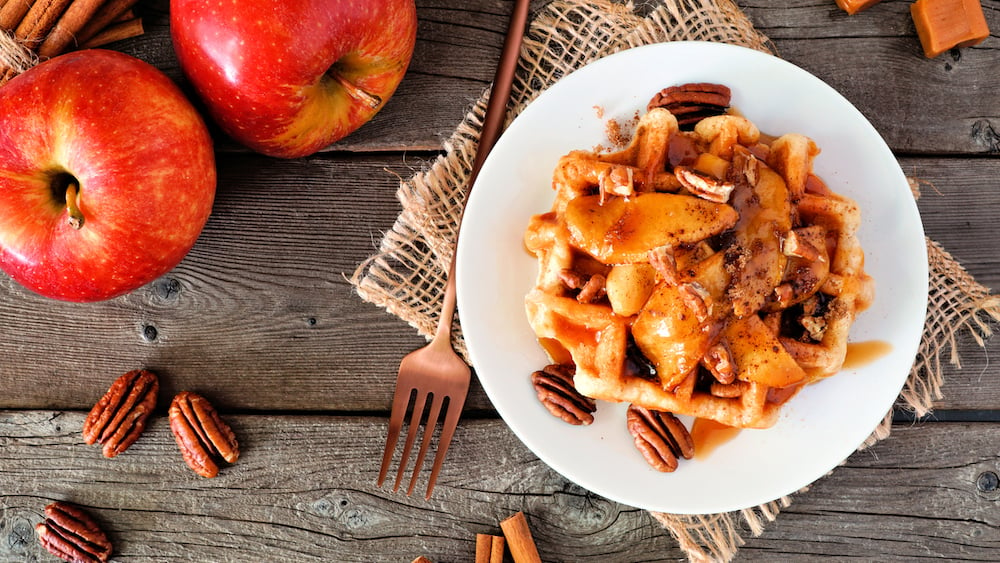
[[[511,100],[513,119],[556,80],[605,55],[676,40],[709,40],[775,53],[730,0],[663,0],[645,16],[631,4],[607,0],[555,0],[529,26]],[[378,254],[351,278],[358,295],[430,336],[437,323],[444,277],[453,251],[466,180],[486,100],[485,91],[445,142],[445,154],[400,183],[402,213],[382,239]],[[916,182],[914,196],[919,195]],[[958,363],[956,337],[971,334],[982,345],[991,320],[1000,320],[1000,299],[978,284],[947,252],[927,240],[930,296],[923,341],[898,406],[922,416],[941,398],[942,361]],[[460,326],[455,347],[466,354]],[[892,413],[862,448],[887,437]],[[800,491],[799,493],[801,493]],[[799,494],[797,493],[797,494]],[[677,539],[692,561],[728,561],[746,533],[759,535],[791,497],[742,511],[697,516],[651,513]]]

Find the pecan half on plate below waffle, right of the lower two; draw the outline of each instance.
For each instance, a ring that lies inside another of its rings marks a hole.
[[[669,473],[677,469],[677,458],[694,457],[691,434],[673,414],[629,405],[625,416],[635,447],[653,469]]]

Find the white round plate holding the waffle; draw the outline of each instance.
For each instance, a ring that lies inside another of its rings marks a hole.
[[[609,119],[628,121],[664,87],[728,85],[732,104],[761,131],[802,133],[814,167],[862,212],[859,238],[875,301],[852,342],[891,350],[803,389],[767,430],[743,430],[674,473],[651,469],[632,444],[624,406],[599,403],[591,426],[552,416],[535,397],[547,362],[524,312],[537,263],[524,248],[532,215],[552,204],[563,154],[608,145]],[[598,116],[595,108],[603,109]],[[567,479],[630,506],[678,514],[738,510],[822,477],[849,456],[892,407],[916,356],[927,304],[923,227],[906,178],[871,124],[806,71],[757,51],[701,42],[630,49],[594,62],[543,92],[511,124],[476,181],[458,246],[458,307],[476,373],[497,411],[528,448]]]

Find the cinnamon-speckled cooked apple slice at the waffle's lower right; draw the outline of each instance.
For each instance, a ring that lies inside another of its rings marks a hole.
[[[787,387],[805,380],[805,371],[757,315],[731,319],[722,331],[722,340],[733,356],[738,379],[770,387]]]

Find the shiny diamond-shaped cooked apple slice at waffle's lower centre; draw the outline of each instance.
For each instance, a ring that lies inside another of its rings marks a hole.
[[[656,286],[632,323],[632,337],[656,366],[664,389],[676,387],[698,366],[711,344],[711,323],[692,306],[683,286]]]

